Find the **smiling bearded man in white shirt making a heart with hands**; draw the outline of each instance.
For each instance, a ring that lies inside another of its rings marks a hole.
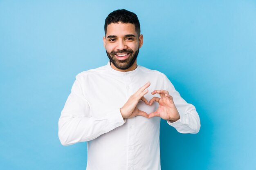
[[[137,65],[135,13],[110,13],[103,43],[110,62],[76,76],[59,119],[61,144],[88,141],[87,170],[160,170],[160,119],[197,133],[198,113],[163,73]]]

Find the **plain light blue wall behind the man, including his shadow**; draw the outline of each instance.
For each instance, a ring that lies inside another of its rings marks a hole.
[[[256,169],[256,1],[0,0],[0,167],[85,170],[58,118],[75,75],[108,62],[103,25],[135,12],[138,64],[165,73],[197,108],[198,134],[160,130],[162,170]]]

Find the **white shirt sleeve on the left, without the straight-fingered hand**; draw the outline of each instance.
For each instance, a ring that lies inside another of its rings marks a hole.
[[[94,96],[91,96],[94,97]],[[99,104],[99,107],[100,104]],[[90,103],[83,95],[79,77],[72,86],[70,95],[58,121],[58,137],[63,145],[90,141],[124,124],[119,108],[108,110],[96,117],[91,113]]]

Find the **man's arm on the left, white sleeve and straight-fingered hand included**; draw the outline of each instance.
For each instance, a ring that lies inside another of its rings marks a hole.
[[[102,114],[104,117],[95,117],[91,113],[90,103],[83,96],[83,90],[77,76],[58,122],[58,136],[61,144],[71,145],[95,139],[123,125],[125,118],[135,116],[148,117],[144,111],[137,108],[139,100],[148,104],[144,97],[148,93],[148,90],[145,90],[148,86],[150,86],[149,82],[139,88],[122,108],[108,110]]]

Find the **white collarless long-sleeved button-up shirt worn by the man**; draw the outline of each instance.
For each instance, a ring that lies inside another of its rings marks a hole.
[[[197,133],[200,119],[195,107],[186,103],[169,79],[159,71],[137,66],[133,71],[114,70],[110,63],[76,75],[71,93],[59,119],[59,139],[63,145],[87,142],[86,170],[160,170],[160,117],[123,119],[120,108],[141,86],[150,82],[153,90],[166,90],[173,97],[180,119],[167,123],[180,133]],[[146,113],[158,108],[139,101]],[[171,146],[170,146],[171,147]]]

